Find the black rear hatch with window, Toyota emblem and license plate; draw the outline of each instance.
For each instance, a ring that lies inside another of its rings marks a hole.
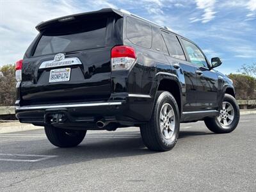
[[[51,20],[23,60],[20,105],[108,100],[111,48],[122,44],[122,17],[113,11]]]

